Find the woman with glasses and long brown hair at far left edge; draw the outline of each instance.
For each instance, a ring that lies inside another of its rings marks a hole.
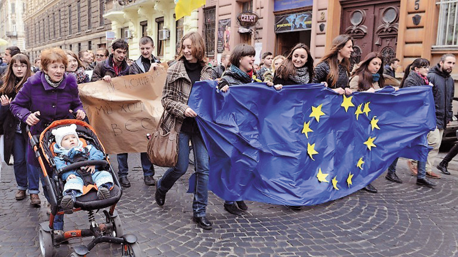
[[[27,147],[27,136],[25,124],[20,122],[10,111],[10,103],[22,88],[25,81],[31,76],[31,64],[24,54],[16,54],[12,57],[8,70],[3,78],[3,85],[0,87],[0,122],[3,135],[5,136],[4,159],[10,163],[11,154],[14,157],[14,176],[16,177],[17,192],[16,200],[25,198],[25,191],[28,189],[31,204],[41,204],[38,193],[40,192],[38,173],[35,173],[27,165],[25,149]]]

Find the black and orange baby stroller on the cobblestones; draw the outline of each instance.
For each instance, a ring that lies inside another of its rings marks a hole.
[[[72,238],[93,237],[93,240],[88,245],[80,245],[73,247],[74,252],[71,256],[86,256],[89,251],[94,248],[98,243],[115,243],[122,245],[122,256],[142,256],[142,251],[138,245],[137,237],[133,234],[124,234],[121,218],[115,210],[115,206],[121,198],[122,189],[113,169],[105,154],[103,160],[85,160],[70,164],[63,169],[56,170],[53,157],[53,146],[55,138],[51,131],[53,128],[66,126],[69,124],[76,124],[76,133],[79,139],[83,142],[83,146],[88,143],[96,147],[98,150],[105,153],[105,149],[97,138],[94,129],[84,121],[76,119],[64,119],[52,122],[41,135],[33,136],[30,132],[30,127],[27,126],[27,134],[30,139],[32,148],[40,163],[41,170],[44,175],[44,183],[46,185],[47,195],[51,205],[51,214],[49,222],[45,221],[39,225],[38,238],[40,240],[40,248],[43,257],[51,257],[53,255],[54,247],[59,247],[62,242]],[[110,198],[99,200],[97,198],[97,191],[90,190],[78,198],[73,206],[73,211],[87,211],[89,216],[89,229],[65,231],[63,234],[55,234],[53,228],[53,221],[55,215],[64,214],[60,203],[63,198],[63,189],[65,181],[62,181],[62,174],[76,170],[78,168],[96,165],[101,169],[111,173],[113,177],[114,186],[110,190]],[[108,208],[106,210],[105,208]],[[94,216],[94,210],[104,209],[105,215],[104,222],[97,223]]]

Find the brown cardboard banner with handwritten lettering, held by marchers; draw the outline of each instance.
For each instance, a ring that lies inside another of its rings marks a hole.
[[[78,85],[91,126],[107,153],[146,152],[156,128],[167,68]]]

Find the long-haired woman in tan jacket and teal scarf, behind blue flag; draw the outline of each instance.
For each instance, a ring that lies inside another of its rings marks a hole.
[[[355,65],[350,79],[350,89],[356,91],[375,92],[385,86],[383,78],[383,57],[380,53],[370,52]]]

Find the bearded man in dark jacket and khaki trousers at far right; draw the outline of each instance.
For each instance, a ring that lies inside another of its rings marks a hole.
[[[428,134],[428,141],[434,140],[437,144],[430,153],[428,153],[426,172],[432,171],[434,160],[439,153],[442,136],[447,123],[452,120],[452,101],[454,95],[454,82],[450,76],[453,67],[455,66],[456,58],[453,54],[442,55],[438,65],[433,67],[428,72],[428,80],[433,83],[434,103],[436,104],[436,121],[438,136],[431,138]],[[440,165],[439,165],[440,167]],[[438,168],[439,168],[438,167]],[[441,169],[442,173],[450,175],[447,169]]]

